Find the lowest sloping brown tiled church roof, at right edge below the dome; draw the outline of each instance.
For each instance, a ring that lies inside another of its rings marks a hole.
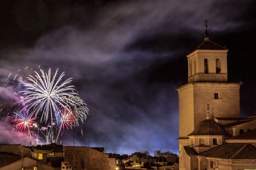
[[[231,160],[256,160],[256,148],[249,143],[225,143],[206,150],[198,156]]]

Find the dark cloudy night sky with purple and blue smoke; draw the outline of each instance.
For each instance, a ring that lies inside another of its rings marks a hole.
[[[226,45],[228,80],[242,81],[241,116],[256,110],[256,1],[1,1],[0,143],[29,145],[8,113],[19,101],[10,73],[65,72],[89,108],[76,146],[178,153],[178,94],[187,57],[204,40]],[[73,145],[73,129],[61,137]],[[147,149],[147,150],[145,150]],[[150,149],[150,150],[149,150]]]

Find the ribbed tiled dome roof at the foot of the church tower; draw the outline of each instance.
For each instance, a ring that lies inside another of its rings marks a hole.
[[[188,136],[217,135],[229,136],[223,127],[212,119],[201,121],[199,125]]]

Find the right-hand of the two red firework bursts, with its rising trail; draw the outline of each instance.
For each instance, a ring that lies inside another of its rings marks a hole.
[[[59,120],[56,120],[57,123],[57,129],[59,129],[57,138],[56,138],[56,143],[58,141],[58,137],[60,135],[60,131],[66,127],[68,129],[68,127],[72,127],[74,126],[74,123],[76,122],[76,117],[75,117],[75,113],[74,111],[72,111],[71,109],[62,109],[60,111],[60,117],[58,117]]]

